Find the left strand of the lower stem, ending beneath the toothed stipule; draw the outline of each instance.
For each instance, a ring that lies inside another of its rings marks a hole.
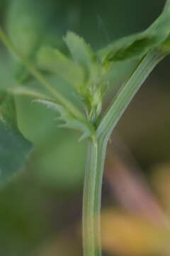
[[[96,255],[96,213],[94,211],[96,171],[98,161],[98,142],[89,140],[86,171],[84,177],[84,199],[83,199],[83,242],[84,256]]]

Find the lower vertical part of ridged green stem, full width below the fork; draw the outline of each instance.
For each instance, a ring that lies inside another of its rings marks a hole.
[[[89,141],[83,201],[84,256],[101,256],[101,196],[97,193],[102,186],[106,146],[107,141],[103,137]]]

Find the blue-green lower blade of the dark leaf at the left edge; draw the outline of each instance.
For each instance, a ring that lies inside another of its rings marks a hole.
[[[31,149],[17,129],[0,120],[0,188],[21,171]]]

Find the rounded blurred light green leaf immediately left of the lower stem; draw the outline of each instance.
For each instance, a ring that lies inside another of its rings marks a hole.
[[[35,151],[33,172],[41,186],[63,195],[82,186],[87,144],[86,140],[79,143],[79,134],[72,130],[52,127]]]

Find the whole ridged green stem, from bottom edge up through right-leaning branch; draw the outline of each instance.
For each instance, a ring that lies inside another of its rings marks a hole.
[[[96,143],[89,142],[89,157],[84,181],[84,256],[101,256],[101,191],[108,139],[123,112],[130,104],[132,97],[145,82],[149,73],[163,58],[164,54],[156,51],[147,54],[140,61],[128,81],[118,92],[118,96],[115,97],[106,114],[104,114],[97,129]]]

